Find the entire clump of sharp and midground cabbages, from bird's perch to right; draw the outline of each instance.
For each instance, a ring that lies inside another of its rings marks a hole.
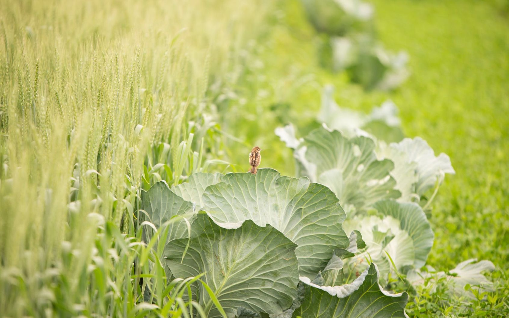
[[[292,125],[275,131],[296,178],[196,172],[143,191],[139,224],[146,242],[164,244],[166,277],[199,277],[187,297],[210,317],[405,317],[408,294],[392,293],[391,281],[449,276],[453,294],[490,288],[489,261],[434,277],[420,270],[434,242],[431,202],[455,173],[449,157],[419,137],[387,141],[402,136],[391,102],[361,114],[326,88],[320,118],[302,138]]]

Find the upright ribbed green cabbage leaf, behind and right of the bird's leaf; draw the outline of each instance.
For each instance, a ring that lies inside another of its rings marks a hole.
[[[349,206],[365,211],[380,199],[401,195],[389,175],[394,165],[387,159],[377,160],[373,139],[346,138],[322,127],[310,132],[302,145],[306,159],[316,166],[316,176],[310,177],[331,188],[349,211]]]

